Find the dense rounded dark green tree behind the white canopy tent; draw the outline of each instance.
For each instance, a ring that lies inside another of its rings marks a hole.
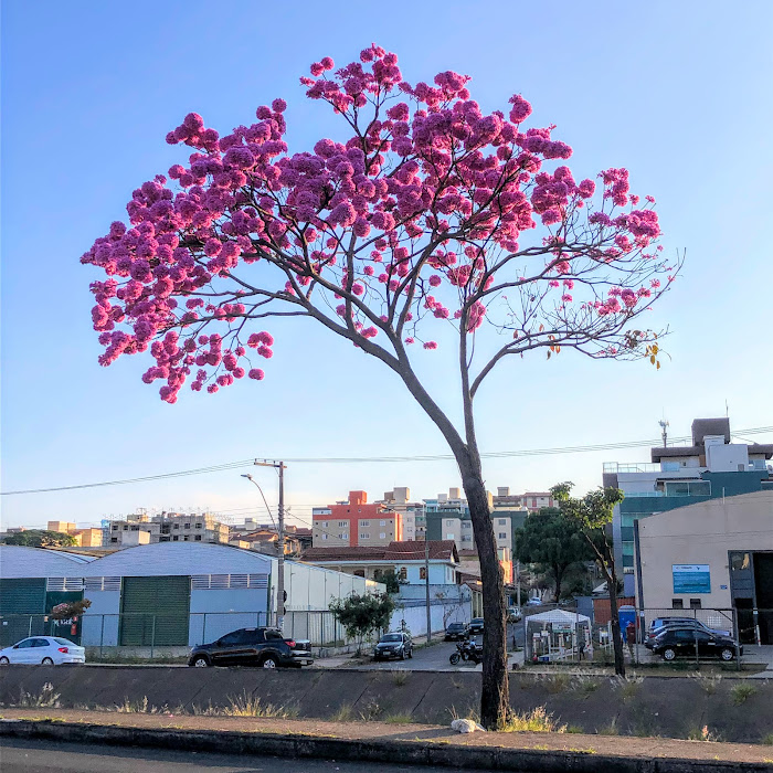
[[[558,602],[566,572],[580,561],[593,560],[595,554],[574,520],[557,508],[544,507],[516,531],[516,558],[537,564],[538,571],[550,575]]]

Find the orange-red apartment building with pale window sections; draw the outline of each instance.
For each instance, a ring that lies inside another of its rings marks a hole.
[[[366,491],[349,491],[349,500],[315,507],[311,513],[315,548],[388,546],[403,540],[403,516],[388,506],[368,505]]]

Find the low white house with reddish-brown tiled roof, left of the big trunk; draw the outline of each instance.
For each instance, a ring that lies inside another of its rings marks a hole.
[[[428,549],[428,559],[426,551]],[[459,555],[453,540],[425,543],[390,542],[388,546],[341,546],[307,550],[303,560],[337,572],[354,574],[381,582],[384,574],[394,572],[400,582],[409,585],[424,584],[430,569],[430,584],[457,584]]]

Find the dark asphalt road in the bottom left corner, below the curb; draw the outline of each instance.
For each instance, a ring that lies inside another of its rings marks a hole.
[[[383,763],[293,760],[275,756],[230,756],[155,749],[0,739],[2,773],[404,773],[405,766]],[[454,773],[434,767],[436,773]]]

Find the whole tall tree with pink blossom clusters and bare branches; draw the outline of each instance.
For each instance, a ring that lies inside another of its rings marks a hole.
[[[636,318],[675,268],[628,172],[603,171],[594,198],[554,127],[525,127],[520,95],[485,114],[467,76],[411,85],[377,45],[310,74],[306,95],[340,117],[341,141],[289,153],[283,99],[225,136],[193,113],[167,136],[193,149],[188,162],[134,191],[130,226],[113,223],[82,258],[107,274],[92,285],[99,361],[149,349],[142,379],[173,403],[186,381],[214,393],[262,380],[255,359],[272,357],[274,338],[258,320],[300,317],[394,371],[462,474],[484,585],[481,719],[494,727],[508,706],[505,606],[474,400],[495,366],[533,349],[659,367],[657,335]],[[436,356],[433,330],[454,333],[460,426],[414,370]]]

